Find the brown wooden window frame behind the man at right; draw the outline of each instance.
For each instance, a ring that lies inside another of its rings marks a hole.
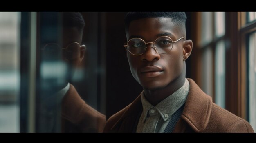
[[[200,12],[192,13],[192,35],[195,43],[191,58],[191,77],[202,87],[202,49],[207,46],[213,48],[215,54],[216,43],[225,40],[225,108],[230,112],[247,119],[247,43],[246,37],[249,33],[256,31],[256,20],[247,23],[246,12],[225,12],[225,35],[219,38],[213,37],[213,41],[206,45],[200,45],[201,15]],[[214,17],[213,17],[214,18]],[[214,22],[214,20],[213,20]],[[214,24],[213,24],[214,26]],[[215,31],[213,27],[213,31]],[[214,32],[213,32],[214,34]],[[214,56],[213,56],[214,58]],[[215,61],[213,59],[213,61]],[[213,63],[213,70],[215,70]],[[215,72],[213,72],[213,86],[215,84]],[[215,87],[213,87],[213,94]],[[215,101],[213,95],[213,101]]]

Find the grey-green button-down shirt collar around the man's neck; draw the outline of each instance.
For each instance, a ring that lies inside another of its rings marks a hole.
[[[186,97],[189,92],[189,81],[185,79],[185,83],[172,95],[166,97],[163,101],[159,102],[156,106],[153,106],[146,99],[144,92],[141,96],[141,103],[143,106],[143,122],[146,120],[146,117],[160,114],[164,121],[167,121],[186,101]],[[149,110],[155,110],[156,112],[152,113]],[[158,112],[158,113],[157,113]]]

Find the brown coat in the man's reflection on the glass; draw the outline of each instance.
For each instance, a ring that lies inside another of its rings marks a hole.
[[[70,84],[62,101],[62,132],[103,132],[105,124],[105,115],[86,104]]]

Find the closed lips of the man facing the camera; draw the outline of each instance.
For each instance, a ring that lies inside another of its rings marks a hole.
[[[146,66],[141,68],[140,72],[146,77],[156,77],[162,73],[163,69],[159,66]]]

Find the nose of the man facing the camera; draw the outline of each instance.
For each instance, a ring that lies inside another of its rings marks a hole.
[[[142,61],[153,61],[159,60],[160,55],[157,53],[156,49],[154,48],[154,44],[152,42],[146,44],[147,48],[146,51],[141,55]]]

